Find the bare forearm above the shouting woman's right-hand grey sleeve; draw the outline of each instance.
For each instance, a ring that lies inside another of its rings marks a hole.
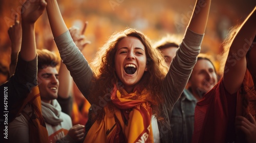
[[[204,34],[210,10],[210,3],[211,0],[197,0],[193,16],[191,16],[188,24],[188,29],[198,34]]]

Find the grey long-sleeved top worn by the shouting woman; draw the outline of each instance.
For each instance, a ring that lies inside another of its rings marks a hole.
[[[194,33],[189,29],[186,30],[182,43],[163,80],[162,90],[165,103],[160,106],[162,109],[161,115],[165,120],[158,122],[161,142],[172,142],[172,132],[169,123],[172,108],[185,88],[191,71],[197,62],[202,39],[202,34]],[[90,82],[93,78],[93,71],[88,61],[76,47],[69,31],[56,37],[54,40],[63,63],[70,70],[71,76],[83,96],[88,99]]]

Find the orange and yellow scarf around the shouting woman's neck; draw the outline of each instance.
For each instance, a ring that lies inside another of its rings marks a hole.
[[[148,97],[146,89],[127,93],[115,85],[111,92],[114,111],[104,107],[103,120],[92,125],[84,142],[154,142]]]

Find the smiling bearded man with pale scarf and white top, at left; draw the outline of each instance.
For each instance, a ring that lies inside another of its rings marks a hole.
[[[72,127],[71,117],[61,111],[61,107],[56,100],[59,87],[56,65],[59,60],[56,55],[48,50],[37,50],[37,54],[37,80],[41,96],[42,116],[46,122],[49,141],[56,142],[56,139],[67,135]]]

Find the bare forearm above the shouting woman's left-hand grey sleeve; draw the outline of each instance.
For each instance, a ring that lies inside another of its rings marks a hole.
[[[54,38],[68,31],[56,0],[47,0],[46,10]]]

